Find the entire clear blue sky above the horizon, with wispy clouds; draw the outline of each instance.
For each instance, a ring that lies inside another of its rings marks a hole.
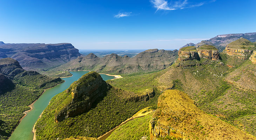
[[[178,49],[256,32],[256,0],[0,0],[0,41]]]

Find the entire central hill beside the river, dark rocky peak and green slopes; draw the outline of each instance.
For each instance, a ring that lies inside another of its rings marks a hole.
[[[109,86],[97,75],[95,72],[83,75],[67,90],[52,98],[35,125],[37,140],[64,139],[74,134],[97,138],[139,110],[156,104],[160,94],[160,91],[155,91],[148,99],[141,99],[144,93],[148,95],[150,89],[142,88],[134,92],[118,89]],[[62,121],[56,121],[59,114],[65,114]]]

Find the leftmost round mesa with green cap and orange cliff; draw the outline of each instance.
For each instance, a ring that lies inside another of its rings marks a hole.
[[[180,61],[199,59],[195,46],[188,46],[180,48],[178,51],[178,59]]]

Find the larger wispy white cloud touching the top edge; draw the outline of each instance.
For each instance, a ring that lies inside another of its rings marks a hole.
[[[216,0],[212,0],[210,2],[215,2],[215,1]],[[198,7],[207,3],[207,2],[192,3],[192,2],[188,2],[188,0],[176,0],[170,3],[168,3],[167,0],[150,0],[150,2],[156,8],[156,12],[158,10],[176,10],[176,9]]]

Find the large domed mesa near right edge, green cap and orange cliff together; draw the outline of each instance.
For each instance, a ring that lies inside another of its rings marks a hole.
[[[226,53],[230,56],[235,56],[240,59],[248,59],[256,45],[245,38],[240,38],[227,45],[225,48]]]

